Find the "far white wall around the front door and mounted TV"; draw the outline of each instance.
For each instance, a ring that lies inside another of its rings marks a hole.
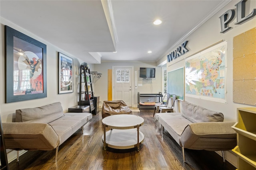
[[[95,96],[100,96],[100,102],[108,100],[108,70],[112,69],[112,66],[134,66],[134,71],[138,72],[140,67],[152,67],[156,68],[156,78],[152,78],[152,92],[151,92],[151,80],[143,80],[138,77],[138,84],[142,84],[142,86],[138,86],[137,89],[134,88],[133,91],[133,106],[137,107],[137,94],[140,93],[158,93],[161,92],[162,88],[162,70],[161,67],[157,67],[156,63],[101,63],[94,64],[94,70],[102,73],[101,78],[96,79],[94,82],[94,92]],[[133,80],[134,81],[134,78]]]

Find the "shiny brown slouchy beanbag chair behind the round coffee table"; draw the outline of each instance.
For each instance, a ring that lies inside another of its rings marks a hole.
[[[132,113],[132,110],[122,100],[103,102],[102,111],[101,111],[102,118],[110,115],[130,114],[130,113]]]

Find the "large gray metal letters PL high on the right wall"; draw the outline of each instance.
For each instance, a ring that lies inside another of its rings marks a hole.
[[[245,2],[246,1],[247,0],[241,0],[240,2],[238,2],[235,5],[236,6],[236,23],[235,24],[242,23],[256,15],[256,9],[253,9],[252,12],[248,16],[245,16]],[[220,16],[220,23],[221,23],[220,33],[224,33],[226,31],[228,31],[228,29],[232,28],[232,27],[228,27],[228,23],[230,23],[230,21],[232,21],[234,16],[235,16],[235,10],[228,10],[227,12],[222,14],[222,16]]]

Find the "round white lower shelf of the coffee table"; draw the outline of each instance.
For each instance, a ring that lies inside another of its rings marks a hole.
[[[107,131],[104,150],[106,150],[106,147],[114,149],[130,149],[137,147],[139,151],[139,146],[144,140],[144,134],[139,131],[139,141],[137,136],[137,129],[112,129]],[[104,143],[104,135],[102,135],[102,141]]]

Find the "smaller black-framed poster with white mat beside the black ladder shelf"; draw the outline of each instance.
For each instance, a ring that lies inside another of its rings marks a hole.
[[[73,59],[62,54],[59,55],[59,94],[73,92]]]

